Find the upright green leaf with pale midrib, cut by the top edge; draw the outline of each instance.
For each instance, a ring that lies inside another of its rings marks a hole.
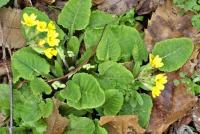
[[[58,24],[70,31],[85,29],[89,24],[91,0],[69,0],[58,16]]]

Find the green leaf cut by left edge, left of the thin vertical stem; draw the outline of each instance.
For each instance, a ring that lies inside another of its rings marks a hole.
[[[7,84],[0,84],[0,113],[9,113],[9,93],[9,86]]]

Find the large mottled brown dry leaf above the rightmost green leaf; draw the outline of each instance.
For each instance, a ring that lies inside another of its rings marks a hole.
[[[176,38],[190,37],[194,44],[200,43],[199,31],[192,27],[191,12],[179,15],[179,9],[173,7],[171,0],[158,7],[148,22],[145,30],[145,43],[148,51],[151,51],[154,44],[158,41]]]

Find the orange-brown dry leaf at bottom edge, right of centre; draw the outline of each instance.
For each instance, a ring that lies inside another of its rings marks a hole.
[[[138,117],[134,115],[103,116],[100,125],[109,125],[109,134],[143,134],[145,130],[138,124]]]

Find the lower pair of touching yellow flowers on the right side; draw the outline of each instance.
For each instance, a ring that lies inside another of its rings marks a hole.
[[[155,85],[152,88],[152,96],[156,98],[160,95],[161,91],[164,90],[165,84],[167,83],[167,76],[165,74],[158,74],[155,76]]]

